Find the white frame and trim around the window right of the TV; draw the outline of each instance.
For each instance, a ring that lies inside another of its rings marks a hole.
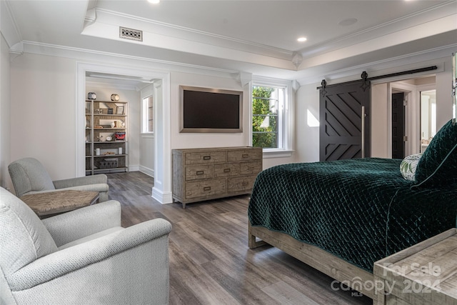
[[[263,76],[253,76],[249,84],[249,145],[252,146],[252,89],[253,86],[270,86],[284,89],[283,103],[278,111],[278,148],[263,149],[264,158],[289,157],[293,152],[293,88],[292,81],[284,79],[272,79]]]

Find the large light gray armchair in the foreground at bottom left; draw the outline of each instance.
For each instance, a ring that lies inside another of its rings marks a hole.
[[[106,201],[40,220],[0,188],[0,304],[168,304],[171,224]]]

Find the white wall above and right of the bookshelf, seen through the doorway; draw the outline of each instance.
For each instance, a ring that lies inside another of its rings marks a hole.
[[[136,90],[121,89],[109,85],[86,84],[86,96],[89,92],[95,92],[97,101],[111,101],[111,94],[119,94],[119,101],[127,101],[128,114],[128,151],[129,154],[129,170],[138,171],[140,164],[140,93]]]

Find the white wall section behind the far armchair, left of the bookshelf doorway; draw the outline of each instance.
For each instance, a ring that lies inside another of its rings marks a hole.
[[[23,54],[10,65],[11,161],[33,156],[52,179],[74,177],[75,61]]]

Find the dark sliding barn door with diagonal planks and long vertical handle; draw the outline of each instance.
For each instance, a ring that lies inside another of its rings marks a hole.
[[[370,84],[335,84],[321,89],[320,160],[370,156]]]

